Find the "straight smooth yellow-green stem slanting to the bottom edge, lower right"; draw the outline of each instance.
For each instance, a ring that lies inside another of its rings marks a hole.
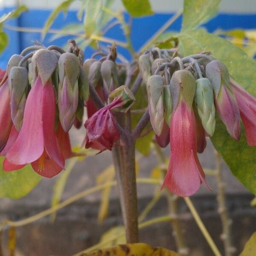
[[[199,229],[201,230],[201,232],[204,235],[204,238],[206,239],[207,243],[209,244],[209,246],[212,249],[212,252],[214,253],[215,256],[221,256],[220,251],[218,250],[216,244],[214,243],[214,241],[212,240],[211,236],[209,235],[206,227],[204,226],[203,221],[201,220],[197,210],[195,209],[192,201],[190,200],[189,197],[185,197],[184,198],[187,206],[189,207],[190,212],[192,213],[195,222],[198,224]]]

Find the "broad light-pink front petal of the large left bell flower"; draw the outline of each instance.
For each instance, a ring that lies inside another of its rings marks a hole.
[[[43,84],[38,76],[26,100],[20,133],[6,154],[9,162],[17,165],[32,163],[43,153],[42,105]]]

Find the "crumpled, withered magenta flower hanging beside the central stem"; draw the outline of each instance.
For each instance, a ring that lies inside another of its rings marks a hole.
[[[90,148],[93,145],[102,145],[104,148],[112,149],[113,143],[119,140],[119,131],[111,109],[119,108],[122,105],[122,100],[115,98],[113,102],[99,109],[93,116],[86,120],[84,124],[87,131],[85,148]]]

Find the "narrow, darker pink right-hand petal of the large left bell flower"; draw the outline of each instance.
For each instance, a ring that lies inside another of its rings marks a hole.
[[[65,160],[61,154],[60,148],[58,148],[55,134],[55,105],[53,85],[47,81],[44,85],[42,106],[44,148],[48,156],[57,163],[58,166],[64,169]]]

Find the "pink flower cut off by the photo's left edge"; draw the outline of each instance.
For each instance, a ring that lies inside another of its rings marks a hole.
[[[0,70],[0,79],[3,79],[5,71]],[[0,151],[5,147],[12,128],[11,96],[8,80],[0,87]]]

